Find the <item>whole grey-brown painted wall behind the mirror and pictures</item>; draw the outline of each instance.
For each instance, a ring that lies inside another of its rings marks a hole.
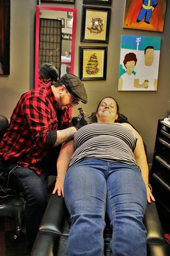
[[[35,0],[11,1],[11,73],[0,77],[0,110],[7,116],[20,98],[20,95],[33,87],[34,70],[34,36],[35,36]],[[88,93],[88,104],[82,106],[87,114],[95,111],[98,101],[110,95],[119,105],[121,113],[128,116],[129,121],[139,130],[146,142],[149,163],[154,153],[157,122],[170,112],[169,86],[169,15],[170,3],[167,1],[165,26],[163,33],[123,29],[124,0],[112,0],[111,26],[109,44],[80,43],[82,0],[75,5],[54,4],[55,6],[74,7],[77,9],[77,30],[75,42],[74,74],[79,75],[79,46],[108,46],[107,80],[86,81],[84,85]],[[52,4],[51,4],[52,5]],[[95,6],[95,5],[90,5]],[[96,5],[97,6],[97,5]],[[100,7],[102,7],[100,5]],[[162,37],[157,92],[118,92],[118,68],[120,62],[121,35],[158,36]],[[72,115],[78,114],[77,107]],[[169,113],[170,114],[170,113]]]

